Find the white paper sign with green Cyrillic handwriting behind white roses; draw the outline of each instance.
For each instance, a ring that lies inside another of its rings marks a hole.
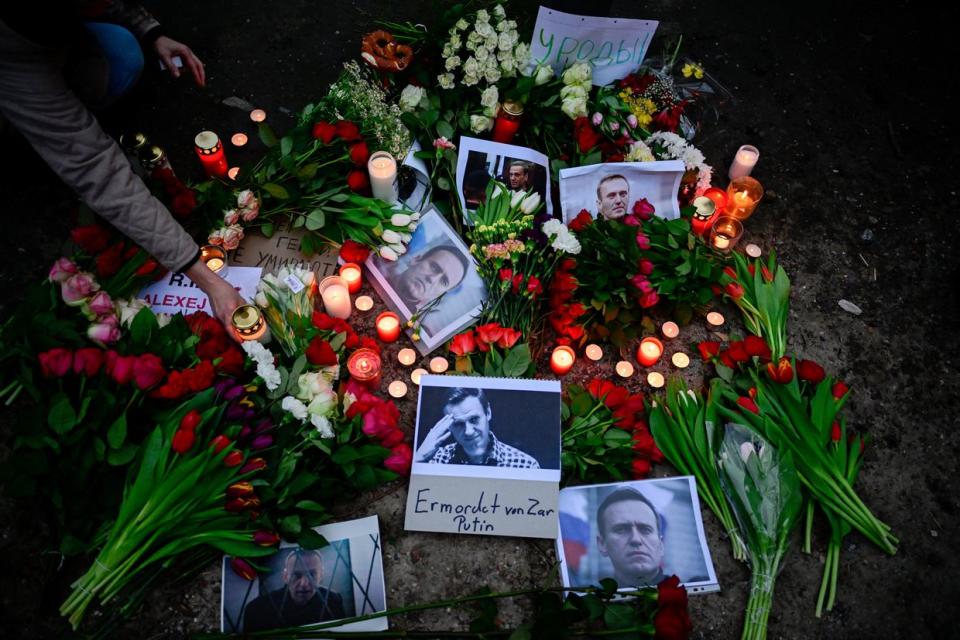
[[[620,80],[640,66],[657,31],[656,20],[577,16],[540,7],[530,58],[561,73],[576,62],[593,65],[593,84]]]

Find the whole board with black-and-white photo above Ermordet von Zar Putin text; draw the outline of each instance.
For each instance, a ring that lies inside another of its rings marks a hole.
[[[556,538],[560,383],[420,378],[407,530]]]

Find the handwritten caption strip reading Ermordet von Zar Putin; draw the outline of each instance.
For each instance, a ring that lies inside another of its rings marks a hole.
[[[488,536],[556,538],[557,483],[412,475],[404,527]]]

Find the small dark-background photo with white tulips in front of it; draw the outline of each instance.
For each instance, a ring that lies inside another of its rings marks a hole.
[[[460,138],[457,156],[457,192],[460,206],[472,224],[471,213],[486,198],[487,185],[496,180],[511,192],[533,190],[546,203],[547,213],[553,213],[550,202],[550,159],[527,147],[501,142]]]

